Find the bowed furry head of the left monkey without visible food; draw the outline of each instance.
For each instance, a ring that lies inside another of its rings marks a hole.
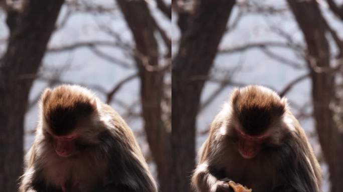
[[[59,156],[67,157],[82,144],[96,141],[92,119],[97,116],[95,96],[77,85],[46,89],[41,98],[43,135]]]

